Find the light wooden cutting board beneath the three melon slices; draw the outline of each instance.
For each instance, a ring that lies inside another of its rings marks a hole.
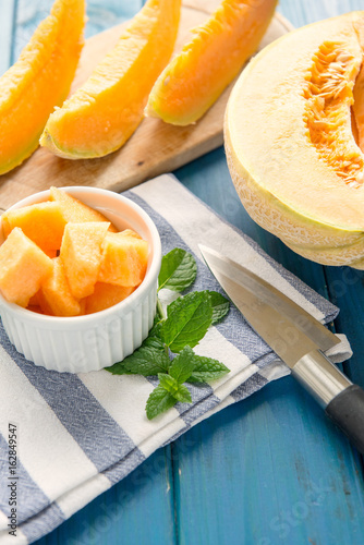
[[[218,0],[184,2],[177,50],[189,38],[191,28],[206,21],[218,3]],[[72,90],[85,82],[126,24],[86,40]],[[260,47],[291,29],[291,24],[277,14]],[[4,210],[50,185],[93,185],[120,192],[201,157],[222,144],[223,112],[232,85],[196,124],[173,126],[146,118],[120,150],[99,159],[60,159],[38,148],[23,165],[0,177],[0,208]]]

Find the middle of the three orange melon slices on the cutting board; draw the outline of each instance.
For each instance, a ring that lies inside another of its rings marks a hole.
[[[148,0],[85,85],[50,116],[40,145],[71,159],[121,147],[173,51],[180,10],[181,0]]]

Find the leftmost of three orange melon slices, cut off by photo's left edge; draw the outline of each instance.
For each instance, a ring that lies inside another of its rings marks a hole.
[[[54,106],[69,94],[85,24],[85,0],[56,0],[17,62],[0,78],[0,174],[26,159]]]

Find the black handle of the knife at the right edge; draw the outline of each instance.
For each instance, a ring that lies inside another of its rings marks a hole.
[[[364,455],[364,390],[353,384],[341,391],[325,412]]]

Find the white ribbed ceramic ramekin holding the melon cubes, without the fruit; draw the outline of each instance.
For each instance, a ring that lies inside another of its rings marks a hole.
[[[131,228],[148,241],[148,267],[143,282],[124,301],[86,316],[45,316],[9,303],[1,294],[0,314],[10,341],[36,365],[71,373],[97,371],[131,354],[153,326],[161,262],[160,239],[149,216],[118,193],[78,186],[63,190],[101,211],[118,229]],[[47,201],[48,197],[49,191],[36,193],[12,208]]]

